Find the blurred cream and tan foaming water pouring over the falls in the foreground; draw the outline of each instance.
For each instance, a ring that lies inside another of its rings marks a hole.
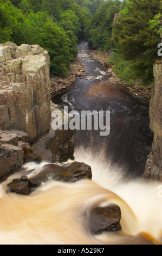
[[[124,182],[124,167],[112,167],[104,161],[103,153],[94,157],[76,149],[75,160],[92,167],[92,181],[73,184],[49,181],[30,196],[5,193],[10,180],[20,178],[29,169],[34,170],[28,174],[30,179],[38,172],[40,166],[31,163],[22,173],[15,173],[3,182],[1,244],[128,245],[147,244],[147,239],[162,243],[162,198],[158,197],[158,184]],[[93,236],[86,229],[86,211],[101,202],[120,206],[122,231],[119,234]]]

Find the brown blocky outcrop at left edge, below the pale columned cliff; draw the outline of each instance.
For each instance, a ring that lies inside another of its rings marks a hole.
[[[28,135],[18,130],[0,130],[0,181],[26,162],[40,162],[28,143]]]

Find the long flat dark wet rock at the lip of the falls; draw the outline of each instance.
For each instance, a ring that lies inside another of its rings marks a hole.
[[[64,182],[75,182],[80,179],[92,179],[91,167],[85,163],[71,162],[63,164],[45,164],[40,173],[34,176],[37,182],[46,182],[54,179]]]

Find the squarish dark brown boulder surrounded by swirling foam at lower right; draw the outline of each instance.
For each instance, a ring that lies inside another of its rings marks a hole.
[[[87,214],[88,228],[92,234],[100,234],[105,231],[119,231],[121,210],[118,205],[111,204],[107,207],[90,209]]]

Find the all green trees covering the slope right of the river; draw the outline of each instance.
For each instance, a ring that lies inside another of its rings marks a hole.
[[[116,74],[125,82],[153,82],[160,42],[160,0],[109,0],[86,26],[90,45],[112,52]]]

